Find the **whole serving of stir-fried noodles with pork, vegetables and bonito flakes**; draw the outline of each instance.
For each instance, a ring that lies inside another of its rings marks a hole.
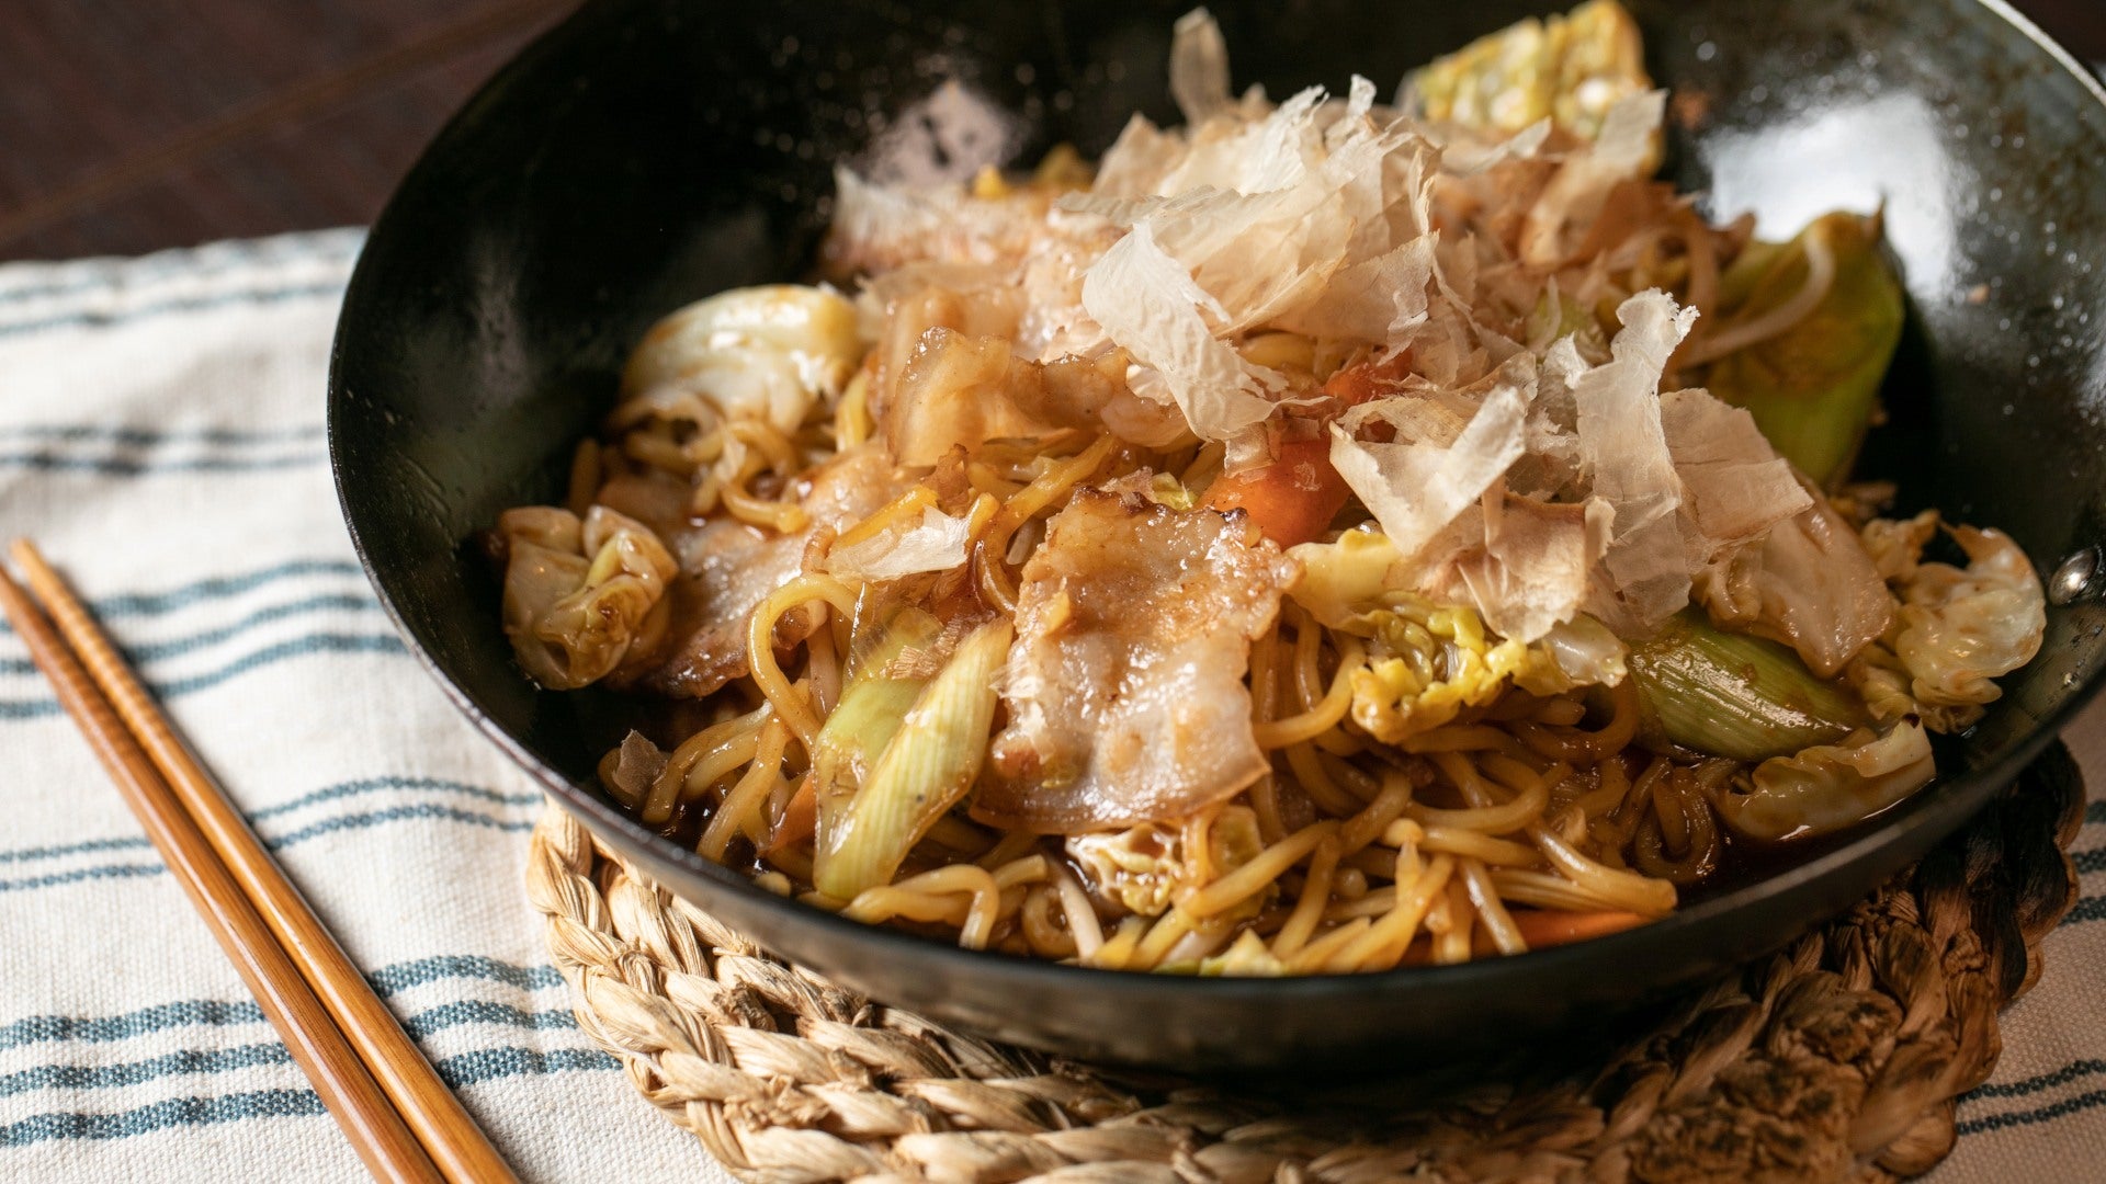
[[[1466,107],[1483,46],[1400,110],[1173,61],[1192,126],[1095,183],[845,175],[855,301],[674,314],[567,508],[499,522],[522,666],[674,704],[602,782],[769,891],[1106,969],[1518,954],[1885,809],[2030,659],[2039,581],[1836,493],[1876,219],[1708,225],[1624,48],[1613,103],[1527,124]]]

